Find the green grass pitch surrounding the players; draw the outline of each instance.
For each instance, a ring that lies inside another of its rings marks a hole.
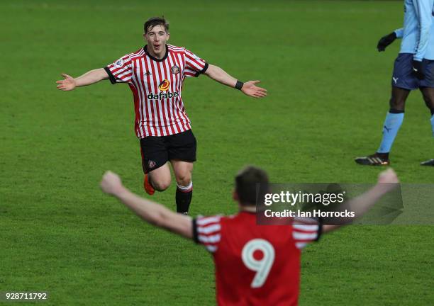
[[[275,182],[373,182],[353,157],[377,149],[399,42],[401,1],[2,1],[0,291],[48,290],[46,305],[208,305],[204,249],[145,225],[104,196],[106,169],[143,195],[132,96],[109,81],[55,89],[143,45],[145,18],[164,14],[174,45],[242,80],[254,100],[206,77],[183,98],[198,140],[191,215],[230,214],[245,164]],[[430,183],[429,113],[411,94],[391,162],[401,181]],[[174,185],[152,200],[174,209]],[[411,201],[407,203],[411,206]],[[309,246],[300,305],[428,305],[434,230],[347,227]]]

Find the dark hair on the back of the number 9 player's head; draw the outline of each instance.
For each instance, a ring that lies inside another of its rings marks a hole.
[[[268,192],[267,172],[255,166],[246,166],[235,176],[235,191],[240,205],[256,205]]]

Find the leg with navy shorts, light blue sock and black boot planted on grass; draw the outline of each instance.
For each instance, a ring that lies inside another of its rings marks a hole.
[[[418,80],[412,73],[412,59],[413,55],[411,54],[400,54],[396,58],[391,81],[390,108],[383,124],[382,142],[374,154],[367,157],[357,157],[355,159],[357,164],[368,166],[389,164],[389,152],[404,120],[406,99],[410,91],[418,87]]]

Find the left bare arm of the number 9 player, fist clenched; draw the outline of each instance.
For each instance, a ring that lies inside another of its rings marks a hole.
[[[135,195],[122,185],[117,174],[107,171],[101,181],[101,189],[105,193],[118,198],[146,222],[167,229],[182,237],[193,238],[191,217],[172,212],[163,205]]]

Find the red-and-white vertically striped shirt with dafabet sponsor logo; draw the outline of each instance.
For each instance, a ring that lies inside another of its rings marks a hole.
[[[167,136],[190,130],[182,101],[186,77],[198,77],[208,64],[184,47],[166,45],[161,60],[148,53],[147,46],[124,55],[104,69],[112,84],[128,83],[134,96],[135,134]]]

